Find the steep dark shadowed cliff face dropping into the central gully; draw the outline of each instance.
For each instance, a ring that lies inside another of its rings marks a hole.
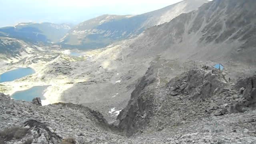
[[[156,76],[154,68],[150,67],[145,76],[136,84],[135,90],[131,94],[128,106],[120,112],[117,120],[120,120],[119,128],[124,130],[127,136],[131,136],[141,128],[146,121],[143,119],[150,118],[153,114],[154,89]]]

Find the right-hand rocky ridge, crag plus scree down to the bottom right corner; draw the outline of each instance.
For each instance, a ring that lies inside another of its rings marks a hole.
[[[217,132],[212,139],[225,142],[230,138],[232,142],[238,142],[235,136],[240,133],[231,135],[230,132],[237,132],[235,129],[243,132],[246,128],[245,131],[251,133],[245,133],[248,139],[242,143],[256,141],[255,137],[251,137],[256,132],[256,115],[253,110],[256,88],[252,86],[256,76],[232,84],[226,80],[224,73],[219,75],[217,69],[204,66],[202,69],[184,72],[170,80],[166,86],[158,88],[155,71],[152,67],[148,69],[132,92],[128,106],[118,116],[118,126],[127,136],[138,132],[160,135],[172,131],[170,133],[174,135],[182,135],[199,131],[195,136],[202,136],[199,141],[208,143],[214,141],[203,138],[208,135],[206,131],[212,132],[214,129],[221,132]],[[247,115],[241,119],[242,114],[234,114],[238,112]],[[193,125],[197,126],[194,130],[191,129]],[[198,130],[198,125],[201,130]],[[223,137],[218,137],[220,135]]]

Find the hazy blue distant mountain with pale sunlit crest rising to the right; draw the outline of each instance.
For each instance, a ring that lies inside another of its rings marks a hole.
[[[207,0],[184,0],[160,10],[136,16],[103,15],[82,22],[61,40],[64,48],[95,49],[130,38],[145,29],[169,22],[176,16],[196,10]]]

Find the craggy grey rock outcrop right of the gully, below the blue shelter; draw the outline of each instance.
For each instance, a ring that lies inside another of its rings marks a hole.
[[[173,78],[166,86],[157,87],[156,71],[151,66],[138,81],[128,106],[117,118],[126,136],[162,131],[209,116],[244,112],[237,104],[242,100],[236,95],[240,87],[236,90],[234,84],[227,82],[225,72],[219,75],[217,69],[194,68]]]

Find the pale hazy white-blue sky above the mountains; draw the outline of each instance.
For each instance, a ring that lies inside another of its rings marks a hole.
[[[0,27],[19,22],[72,22],[102,14],[142,14],[182,0],[0,0]]]

